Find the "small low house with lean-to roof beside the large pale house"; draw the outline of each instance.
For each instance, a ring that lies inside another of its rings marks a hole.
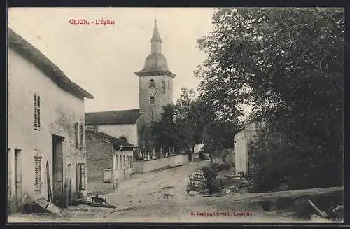
[[[88,193],[109,191],[134,172],[133,144],[94,129],[86,130]]]

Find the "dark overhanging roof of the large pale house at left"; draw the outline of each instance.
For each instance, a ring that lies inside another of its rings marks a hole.
[[[79,85],[71,81],[54,63],[52,63],[43,53],[28,43],[22,36],[8,29],[8,46],[13,48],[17,53],[25,57],[29,62],[33,63],[38,69],[50,77],[60,88],[71,92],[73,95],[93,99],[94,97],[80,88]]]

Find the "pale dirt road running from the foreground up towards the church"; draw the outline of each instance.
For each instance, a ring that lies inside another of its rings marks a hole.
[[[148,174],[134,174],[114,193],[104,195],[116,209],[69,207],[71,217],[64,221],[76,222],[295,222],[262,211],[256,204],[223,202],[220,197],[202,197],[186,194],[188,175],[207,162],[196,162],[181,167]],[[103,196],[103,197],[104,197]],[[218,214],[218,216],[217,216]],[[40,221],[62,221],[62,218],[36,216]]]

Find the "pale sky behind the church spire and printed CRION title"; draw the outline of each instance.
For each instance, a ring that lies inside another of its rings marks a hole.
[[[193,71],[205,59],[197,39],[212,29],[213,8],[10,8],[8,24],[94,95],[85,111],[139,107],[134,74],[151,53],[154,18],[174,78],[174,102],[182,87],[197,88]],[[115,25],[71,25],[71,19],[114,20]]]

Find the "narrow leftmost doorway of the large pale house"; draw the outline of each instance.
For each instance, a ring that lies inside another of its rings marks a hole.
[[[21,150],[15,149],[15,201],[16,210],[22,210],[22,170],[21,170]]]

